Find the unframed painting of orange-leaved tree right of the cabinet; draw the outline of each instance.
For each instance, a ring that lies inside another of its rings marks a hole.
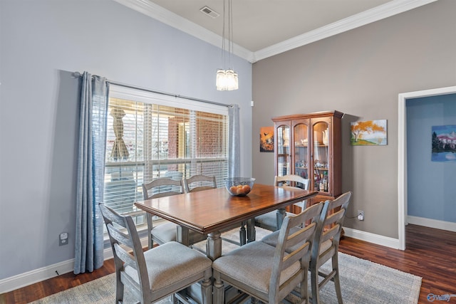
[[[387,145],[386,120],[366,120],[350,122],[352,146],[381,146]]]

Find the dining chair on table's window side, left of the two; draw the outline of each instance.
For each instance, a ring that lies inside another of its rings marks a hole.
[[[144,199],[155,199],[157,197],[171,196],[184,193],[184,182],[182,179],[175,180],[169,178],[158,178],[147,184],[142,184],[142,196]],[[170,221],[154,226],[152,214],[146,212],[148,245],[149,249],[153,248],[154,241],[161,245],[170,241],[177,240],[177,224]],[[199,234],[196,231],[189,231],[189,243],[197,243],[203,241],[207,236]]]

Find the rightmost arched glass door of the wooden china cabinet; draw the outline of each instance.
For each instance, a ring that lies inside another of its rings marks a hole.
[[[314,125],[314,189],[319,192],[328,192],[329,130],[327,122]]]

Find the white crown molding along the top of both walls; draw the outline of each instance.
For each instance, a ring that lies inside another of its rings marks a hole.
[[[139,11],[142,14],[150,16],[157,21],[172,26],[173,28],[177,28],[180,31],[195,36],[196,38],[210,43],[213,46],[220,47],[222,44],[220,43],[220,39],[222,39],[222,37],[216,33],[208,31],[206,28],[188,21],[187,19],[184,19],[181,16],[172,13],[171,11],[163,9],[161,6],[158,6],[157,4],[154,4],[148,0],[114,1],[118,2],[119,4],[128,6],[130,9],[134,9],[135,11]],[[281,43],[276,43],[273,46],[263,48],[256,52],[249,51],[246,48],[242,48],[242,46],[234,43],[233,53],[241,58],[244,58],[250,63],[255,63],[261,59],[290,51],[293,48],[305,46],[306,44],[337,35],[338,33],[350,31],[353,28],[365,26],[368,23],[379,21],[381,19],[403,13],[404,11],[410,11],[410,9],[415,9],[419,6],[430,4],[434,1],[437,0],[393,0],[373,9],[369,9],[368,11],[363,11],[346,19],[342,19],[326,26],[322,26],[321,28],[317,28],[314,31],[309,31],[302,35],[290,38],[286,41],[282,41]]]

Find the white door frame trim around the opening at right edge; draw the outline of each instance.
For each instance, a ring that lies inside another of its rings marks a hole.
[[[456,86],[401,93],[398,95],[398,235],[399,248],[405,250],[407,210],[407,116],[405,101],[435,95],[456,93]]]

